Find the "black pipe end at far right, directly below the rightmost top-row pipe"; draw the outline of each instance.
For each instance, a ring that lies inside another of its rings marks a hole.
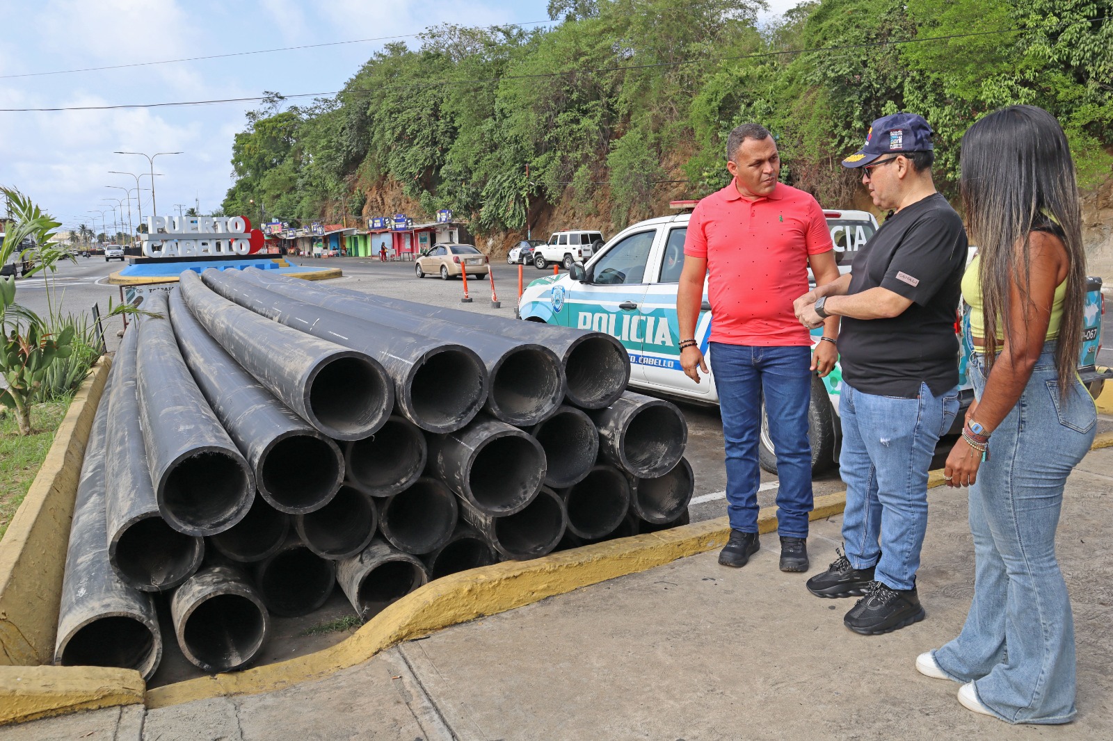
[[[684,454],[688,423],[671,402],[626,392],[590,414],[600,456],[634,476],[662,476]]]

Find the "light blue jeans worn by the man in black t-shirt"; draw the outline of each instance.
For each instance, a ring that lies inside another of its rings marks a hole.
[[[916,586],[927,530],[927,471],[957,413],[957,386],[933,396],[920,384],[918,398],[899,398],[843,384],[843,544],[851,566],[876,566],[874,579],[889,589]]]

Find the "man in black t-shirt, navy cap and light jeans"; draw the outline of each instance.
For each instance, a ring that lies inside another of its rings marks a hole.
[[[932,181],[932,129],[919,116],[874,121],[843,161],[861,168],[874,205],[894,211],[851,273],[796,300],[818,327],[841,316],[839,468],[845,553],[808,580],[817,596],[864,595],[843,622],[867,635],[924,619],[916,571],[927,530],[927,471],[958,412],[955,312],[966,233]]]

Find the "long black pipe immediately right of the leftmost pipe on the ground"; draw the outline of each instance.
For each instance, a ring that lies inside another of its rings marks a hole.
[[[197,571],[205,541],[170,527],[150,483],[139,426],[136,356],[139,329],[132,324],[116,352],[116,383],[101,397],[108,407],[105,452],[105,517],[108,560],[125,584],[145,592],[177,586]]]

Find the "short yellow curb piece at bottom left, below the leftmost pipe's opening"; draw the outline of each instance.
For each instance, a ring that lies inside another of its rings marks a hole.
[[[139,704],[144,688],[142,676],[131,669],[0,666],[0,725]]]

